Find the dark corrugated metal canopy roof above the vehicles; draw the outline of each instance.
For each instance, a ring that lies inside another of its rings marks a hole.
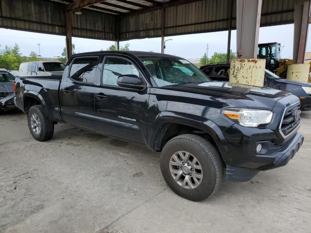
[[[236,0],[232,0],[235,29]],[[72,36],[129,40],[225,31],[231,0],[0,0],[0,27],[66,34],[64,12],[73,14]],[[294,22],[294,0],[263,0],[261,26]]]

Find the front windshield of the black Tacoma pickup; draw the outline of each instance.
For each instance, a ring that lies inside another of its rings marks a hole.
[[[139,57],[158,86],[211,82],[200,69],[184,59],[163,56]]]

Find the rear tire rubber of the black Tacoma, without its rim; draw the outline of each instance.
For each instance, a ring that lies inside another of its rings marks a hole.
[[[31,126],[31,117],[35,115],[38,116],[41,125],[39,133],[35,133]],[[48,117],[45,116],[41,105],[34,105],[29,109],[28,128],[33,137],[40,142],[51,139],[54,133],[53,121],[49,120]]]

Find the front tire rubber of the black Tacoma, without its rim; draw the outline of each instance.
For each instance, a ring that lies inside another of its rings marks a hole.
[[[203,178],[197,187],[185,188],[174,181],[170,172],[170,159],[177,151],[188,151],[200,162]],[[182,134],[167,142],[161,153],[160,166],[168,186],[174,193],[188,200],[208,198],[218,190],[223,180],[224,166],[218,151],[210,142],[194,134]]]

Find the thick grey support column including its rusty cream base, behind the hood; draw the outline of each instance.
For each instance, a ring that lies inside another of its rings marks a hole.
[[[257,59],[262,0],[236,1],[238,58],[230,62],[229,82],[263,86],[266,61]]]

